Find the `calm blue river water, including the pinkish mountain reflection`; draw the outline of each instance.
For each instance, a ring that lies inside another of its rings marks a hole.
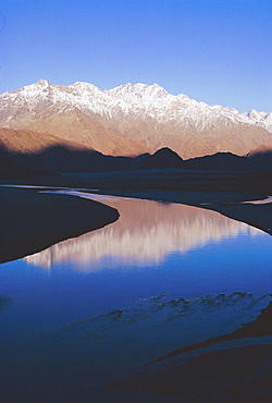
[[[104,384],[271,301],[268,234],[195,207],[89,197],[120,219],[1,265],[0,401],[175,402]]]

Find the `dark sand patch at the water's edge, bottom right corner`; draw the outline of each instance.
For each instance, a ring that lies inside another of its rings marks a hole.
[[[148,392],[175,396],[182,402],[270,403],[271,344],[237,346],[231,343],[194,357],[181,359],[175,366],[136,374],[134,379],[112,382],[112,390]]]

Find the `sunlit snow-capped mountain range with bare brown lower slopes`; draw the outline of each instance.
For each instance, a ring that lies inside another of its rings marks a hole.
[[[191,158],[272,147],[272,113],[209,106],[158,84],[101,90],[88,83],[41,80],[0,95],[0,126],[47,132],[111,155],[170,147]]]

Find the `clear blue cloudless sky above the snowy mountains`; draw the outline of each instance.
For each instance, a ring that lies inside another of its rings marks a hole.
[[[272,111],[272,0],[0,0],[0,93],[158,83]]]

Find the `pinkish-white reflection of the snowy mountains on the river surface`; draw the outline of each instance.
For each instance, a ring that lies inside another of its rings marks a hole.
[[[242,232],[258,233],[247,224],[191,206],[116,197],[107,197],[104,203],[119,210],[116,222],[55,244],[25,260],[45,268],[73,261],[77,270],[99,271],[99,259],[106,256],[127,266],[145,266],[161,261],[170,253],[186,253]]]

